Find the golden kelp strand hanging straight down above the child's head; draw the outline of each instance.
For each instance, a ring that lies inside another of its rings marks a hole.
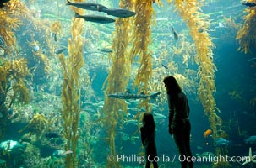
[[[152,1],[137,1],[135,5],[136,16],[134,18],[133,47],[131,50],[131,60],[135,55],[140,57],[140,66],[135,77],[134,86],[138,87],[138,92],[149,93],[149,79],[152,77],[152,64],[149,51],[151,43],[152,18],[155,18],[155,11]],[[145,107],[148,110],[148,100],[139,102],[139,108]]]

